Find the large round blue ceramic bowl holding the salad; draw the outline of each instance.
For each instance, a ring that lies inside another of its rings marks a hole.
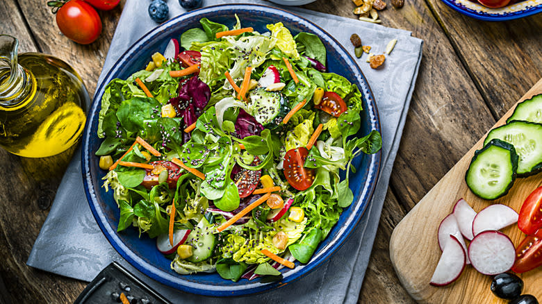
[[[111,192],[106,193],[104,188],[101,187],[103,183],[101,178],[106,174],[106,171],[99,168],[99,158],[94,154],[101,144],[101,140],[97,137],[97,126],[101,96],[104,94],[105,85],[113,78],[126,79],[139,69],[143,69],[149,62],[151,54],[156,51],[163,51],[170,38],[179,38],[181,33],[189,28],[199,27],[199,19],[207,17],[214,22],[227,24],[231,28],[236,22],[234,14],[240,17],[245,26],[252,26],[255,31],[261,33],[267,31],[265,29],[266,24],[280,21],[290,29],[293,35],[302,31],[318,35],[327,49],[329,71],[343,75],[352,83],[356,83],[363,93],[364,110],[359,135],[366,135],[370,130],[380,131],[375,98],[372,96],[368,82],[356,62],[322,28],[290,12],[255,5],[223,5],[202,8],[188,12],[154,28],[154,30],[133,44],[113,65],[104,82],[97,88],[89,112],[81,156],[83,160],[83,183],[90,209],[109,242],[133,267],[165,285],[184,292],[208,296],[236,296],[263,292],[292,282],[322,264],[343,244],[348,235],[354,230],[356,223],[361,219],[375,189],[381,159],[381,153],[379,152],[375,155],[360,155],[359,158],[354,160],[357,171],[356,174],[350,174],[350,187],[354,192],[354,203],[344,210],[337,225],[331,230],[331,233],[322,244],[318,246],[308,264],[304,265],[296,262],[295,269],[283,269],[281,278],[274,282],[264,282],[261,278],[251,281],[242,279],[238,282],[231,282],[231,280],[220,278],[217,273],[181,276],[170,269],[170,260],[167,260],[158,252],[154,239],[149,239],[146,234],[138,237],[138,230],[135,228],[129,228],[122,231],[122,233],[117,233],[119,210]]]

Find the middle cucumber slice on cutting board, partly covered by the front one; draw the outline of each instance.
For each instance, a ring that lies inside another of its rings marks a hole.
[[[542,124],[511,121],[489,131],[484,144],[493,138],[513,144],[516,148],[519,155],[518,176],[529,176],[542,169]]]

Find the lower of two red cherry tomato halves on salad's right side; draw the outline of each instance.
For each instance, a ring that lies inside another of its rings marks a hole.
[[[295,189],[302,191],[311,187],[315,170],[303,167],[309,151],[304,147],[291,149],[284,155],[284,176]]]

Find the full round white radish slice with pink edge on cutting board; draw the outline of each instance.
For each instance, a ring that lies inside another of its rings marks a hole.
[[[516,249],[504,233],[484,231],[470,242],[468,257],[477,271],[493,276],[512,268],[516,260]]]

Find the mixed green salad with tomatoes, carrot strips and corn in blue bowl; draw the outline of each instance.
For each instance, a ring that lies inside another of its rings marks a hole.
[[[352,160],[381,137],[356,137],[362,95],[327,72],[317,36],[200,23],[106,86],[96,155],[117,231],[156,238],[177,273],[277,276],[309,262],[353,201]]]

